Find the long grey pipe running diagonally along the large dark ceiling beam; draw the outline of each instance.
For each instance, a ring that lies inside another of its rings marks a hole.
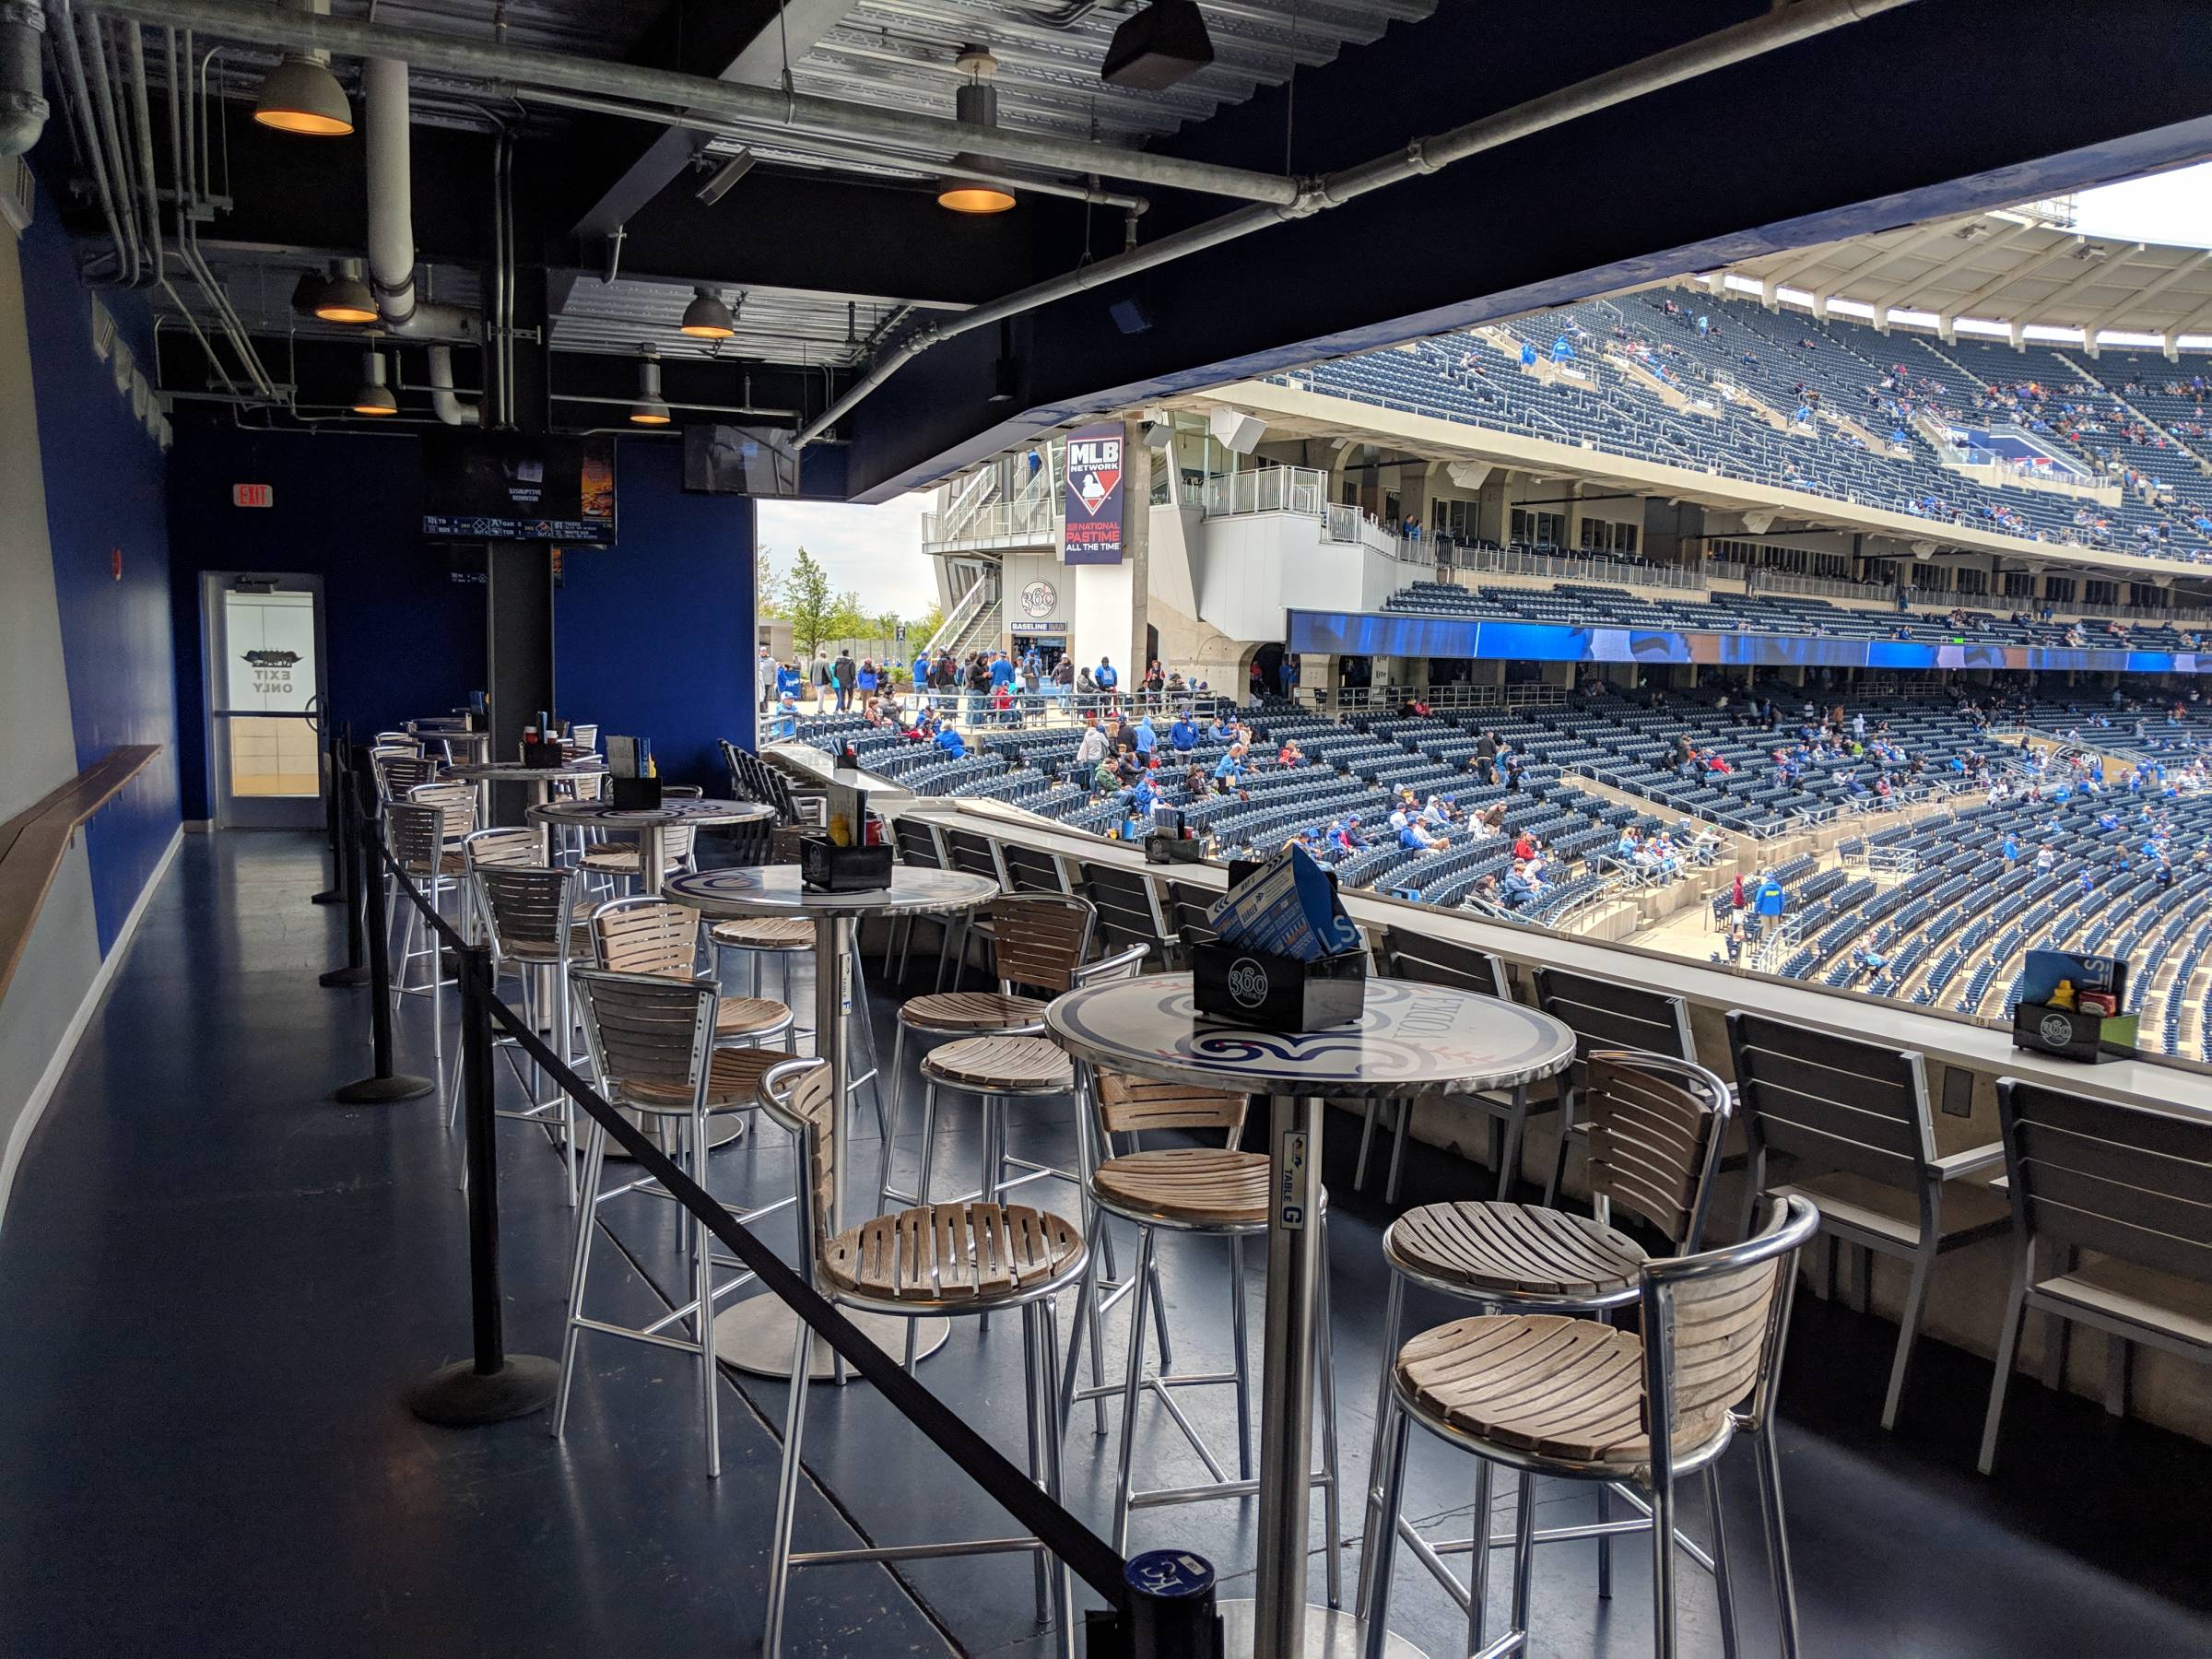
[[[1639,58],[1632,64],[1610,69],[1604,75],[1593,75],[1590,80],[1564,86],[1557,93],[1531,97],[1526,104],[1515,104],[1513,108],[1486,115],[1480,122],[1469,122],[1467,126],[1455,126],[1449,133],[1438,133],[1433,137],[1413,139],[1402,150],[1391,150],[1374,161],[1363,161],[1340,173],[1312,179],[1294,206],[1237,208],[1219,219],[1208,219],[1206,223],[1190,226],[1188,230],[1170,232],[1146,248],[1130,248],[1128,252],[1113,254],[1110,259],[1099,259],[1091,265],[1082,265],[1079,270],[1071,270],[1064,276],[1053,276],[1051,281],[1035,283],[1033,288],[1002,294],[1000,299],[975,305],[960,316],[931,323],[918,334],[900,341],[867,374],[863,374],[843,398],[807,422],[807,427],[799,434],[799,442],[807,445],[821,438],[830,431],[830,427],[874,394],[876,387],[898,374],[900,367],[940,341],[1002,323],[1009,316],[1022,316],[1040,305],[1051,305],[1091,288],[1117,283],[1124,276],[1135,276],[1137,272],[1146,272],[1177,259],[1188,259],[1190,254],[1208,248],[1219,248],[1225,241],[1250,237],[1254,230],[1267,230],[1290,219],[1305,219],[1316,212],[1327,212],[1329,208],[1340,208],[1363,195],[1427,173],[1438,173],[1453,161],[1464,161],[1471,155],[1495,150],[1502,144],[1511,144],[1553,126],[1564,126],[1582,119],[1584,115],[1595,115],[1597,111],[1613,108],[1615,104],[1626,104],[1632,97],[1657,93],[1663,86],[1710,75],[1717,69],[1728,69],[1730,64],[1741,64],[1750,58],[1794,46],[1803,40],[1812,40],[1814,35],[1825,35],[1832,29],[1843,29],[1907,4],[1911,4],[1911,0],[1796,0],[1796,4],[1739,22],[1730,29],[1719,29],[1710,35],[1699,35],[1681,46],[1670,46],[1668,51],[1652,53],[1650,58]]]

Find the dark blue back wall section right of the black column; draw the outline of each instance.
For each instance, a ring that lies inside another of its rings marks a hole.
[[[622,544],[562,553],[553,688],[566,719],[648,737],[664,779],[723,794],[714,739],[754,730],[752,502],[681,473],[675,440],[617,447]]]

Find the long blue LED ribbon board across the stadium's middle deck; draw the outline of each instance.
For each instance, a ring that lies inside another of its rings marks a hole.
[[[1832,639],[1666,628],[1568,628],[1542,622],[1292,611],[1290,648],[1323,657],[1469,657],[1504,661],[1688,661],[1759,668],[2073,668],[2117,675],[2212,675],[2212,653],[1995,646],[1978,639]]]

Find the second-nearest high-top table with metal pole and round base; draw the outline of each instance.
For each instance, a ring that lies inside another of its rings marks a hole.
[[[661,887],[670,905],[688,905],[708,920],[805,918],[814,922],[814,1053],[830,1062],[832,1099],[830,1133],[836,1137],[836,1188],[832,1192],[830,1232],[845,1228],[845,1155],[847,1115],[852,1110],[852,1011],[854,927],[865,916],[960,916],[984,900],[998,898],[998,883],[960,869],[920,869],[891,865],[889,887],[856,894],[830,894],[805,887],[799,865],[761,865],[750,869],[701,869],[675,876]],[[874,1040],[874,1033],[869,1033]],[[876,1079],[878,1088],[883,1077]],[[898,1079],[891,1079],[898,1086]],[[907,1327],[916,1332],[916,1358],[945,1347],[947,1321],[907,1321],[896,1314],[852,1314],[854,1325],[887,1354],[907,1352]],[[754,1376],[790,1376],[792,1336],[799,1316],[776,1296],[748,1296],[714,1316],[714,1352]],[[827,1343],[814,1338],[807,1374],[841,1378],[841,1365]]]

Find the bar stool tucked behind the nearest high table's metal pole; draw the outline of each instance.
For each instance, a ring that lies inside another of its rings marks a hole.
[[[1088,1066],[1084,1068],[1091,1071]],[[1243,1241],[1267,1237],[1270,1210],[1270,1164],[1265,1152],[1234,1150],[1237,1133],[1243,1128],[1243,1095],[1188,1088],[1183,1084],[1155,1084],[1113,1071],[1086,1077],[1088,1095],[1095,1104],[1097,1146],[1104,1159],[1088,1172],[1088,1194],[1093,1214],[1093,1237],[1104,1234],[1106,1217],[1121,1217],[1137,1228],[1137,1265],[1126,1285],[1108,1285],[1095,1274],[1084,1274],[1077,1303],[1077,1325],[1068,1336],[1066,1374],[1062,1378],[1064,1398],[1073,1407],[1091,1400],[1097,1413],[1097,1433],[1106,1433],[1104,1402],[1121,1398],[1121,1462],[1115,1482],[1113,1544],[1128,1553],[1128,1517],[1133,1509],[1155,1509],[1166,1504],[1192,1504],[1217,1498],[1250,1498],[1259,1493],[1252,1478],[1252,1358],[1245,1321],[1245,1274]],[[1115,1155],[1115,1135],[1135,1139],[1146,1130],[1219,1130],[1221,1148],[1210,1146],[1164,1146]],[[1088,1135],[1084,1141],[1088,1144]],[[1329,1259],[1329,1214],[1327,1194],[1321,1203],[1321,1261]],[[1230,1248],[1230,1349],[1232,1369],[1210,1374],[1172,1374],[1168,1349],[1166,1298],[1159,1292],[1159,1232],[1177,1232],[1201,1239],[1225,1239]],[[1104,1352],[1104,1310],[1124,1290],[1135,1290],[1128,1314],[1128,1360],[1121,1383],[1099,1380]],[[1329,1606],[1340,1599],[1338,1566],[1338,1484],[1336,1484],[1336,1363],[1329,1356],[1329,1276],[1321,1274],[1318,1287],[1321,1338],[1314,1349],[1321,1387],[1321,1469],[1312,1484],[1321,1486],[1327,1522],[1327,1571]],[[1146,1369],[1146,1316],[1159,1343],[1159,1369]],[[1091,1387],[1075,1389],[1075,1349],[1091,1338]],[[1172,1389],[1190,1387],[1234,1387],[1237,1389],[1237,1478],[1214,1458],[1206,1438],[1197,1431],[1181,1407],[1175,1405]],[[1210,1484],[1161,1486],[1152,1491],[1135,1489],[1135,1442],[1137,1402],[1150,1394],[1159,1400],[1168,1420],[1206,1464]]]

